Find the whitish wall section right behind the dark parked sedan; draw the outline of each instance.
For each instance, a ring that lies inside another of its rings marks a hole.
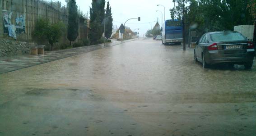
[[[246,36],[250,41],[253,40],[254,25],[235,26],[234,31],[242,33],[242,35]]]

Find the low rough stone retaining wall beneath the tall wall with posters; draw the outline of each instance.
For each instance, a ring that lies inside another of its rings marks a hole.
[[[29,54],[29,43],[0,39],[0,57]]]

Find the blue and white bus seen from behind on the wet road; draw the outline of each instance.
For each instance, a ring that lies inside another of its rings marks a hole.
[[[182,41],[182,21],[178,19],[166,20],[162,27],[162,43],[164,45],[169,43],[181,44]]]

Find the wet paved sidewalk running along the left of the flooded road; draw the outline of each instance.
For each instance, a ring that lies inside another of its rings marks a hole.
[[[134,40],[135,39],[127,40],[127,41],[134,41]],[[123,41],[123,43],[127,41]],[[26,54],[26,55],[0,58],[0,74],[15,71],[21,68],[28,68],[34,65],[47,63],[54,60],[63,59],[63,58],[71,57],[74,55],[83,54],[93,50],[98,50],[98,49],[120,45],[120,44],[122,44],[121,41],[113,40],[112,43],[106,43],[105,46],[104,44],[99,44],[99,45],[72,48],[67,50],[46,51],[44,55]]]

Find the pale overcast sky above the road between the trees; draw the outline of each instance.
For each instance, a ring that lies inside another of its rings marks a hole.
[[[59,0],[61,3],[65,4],[65,0]],[[161,13],[156,12],[160,10],[163,12],[163,21],[164,21],[164,9],[162,6],[157,6],[158,4],[164,5],[166,9],[166,19],[170,19],[170,8],[173,8],[172,0],[109,0],[110,6],[112,8],[113,16],[113,25],[120,27],[121,23],[129,18],[140,17],[141,21],[130,20],[126,23],[127,27],[130,27],[132,31],[136,28],[140,28],[140,36],[143,36],[148,29],[151,29],[151,25],[154,27],[154,24],[157,20],[157,17],[160,19],[161,23]],[[76,0],[77,5],[80,9],[87,14],[89,13],[89,7],[91,6],[92,0]],[[107,7],[107,0],[106,0]]]

